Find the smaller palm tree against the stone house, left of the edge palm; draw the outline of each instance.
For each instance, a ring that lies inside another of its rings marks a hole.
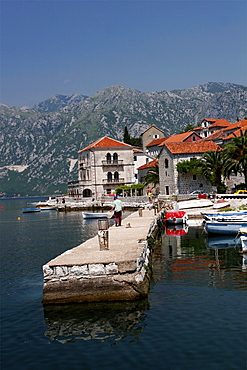
[[[205,152],[201,159],[201,171],[206,179],[208,179],[213,186],[216,186],[218,193],[225,190],[225,185],[222,182],[222,151]]]

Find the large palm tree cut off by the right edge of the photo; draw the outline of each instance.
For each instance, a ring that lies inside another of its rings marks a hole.
[[[247,130],[245,132],[240,130],[240,132],[240,137],[234,137],[224,147],[223,173],[228,178],[233,172],[243,175],[245,188],[247,189]]]

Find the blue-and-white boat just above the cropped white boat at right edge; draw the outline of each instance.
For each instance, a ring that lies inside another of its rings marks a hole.
[[[205,229],[208,234],[237,234],[239,229],[247,227],[246,221],[205,221]]]

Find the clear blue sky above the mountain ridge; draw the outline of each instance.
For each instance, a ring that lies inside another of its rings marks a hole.
[[[1,0],[0,103],[246,85],[246,1]]]

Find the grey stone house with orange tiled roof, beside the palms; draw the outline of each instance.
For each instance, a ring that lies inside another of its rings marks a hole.
[[[212,192],[212,185],[202,175],[180,174],[177,163],[200,158],[207,151],[221,150],[213,141],[191,143],[164,143],[159,155],[160,194],[188,194],[194,190]]]

